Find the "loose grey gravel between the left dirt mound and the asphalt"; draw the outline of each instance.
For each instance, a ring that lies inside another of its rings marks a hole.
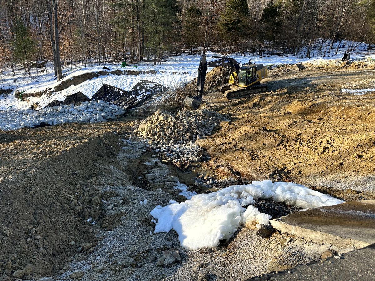
[[[269,272],[270,266],[277,270],[318,260],[329,248],[280,233],[261,238],[246,228],[231,241],[222,241],[220,247],[181,248],[174,231],[153,233],[154,221],[149,214],[156,205],[165,206],[170,199],[177,199],[178,191],[176,194],[175,189],[163,187],[166,181],[178,181],[174,168],[160,161],[152,167],[145,163],[153,162],[153,158],[139,160],[144,142],[123,139],[123,143],[127,149],[120,152],[113,166],[106,166],[101,180],[102,193],[117,194],[103,202],[106,219],[93,225],[101,241],[92,253],[77,254],[56,279],[66,280],[73,274],[81,280],[245,280]],[[133,185],[129,176],[132,169],[142,167],[145,174],[154,175],[145,185],[147,189]],[[144,199],[147,205],[140,205]],[[111,205],[114,207],[108,210]],[[100,228],[111,218],[117,221],[115,225]]]

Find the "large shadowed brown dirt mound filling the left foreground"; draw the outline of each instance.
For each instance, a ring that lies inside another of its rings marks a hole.
[[[62,269],[83,244],[78,251],[96,244],[86,220],[99,218],[108,197],[95,182],[96,162],[118,146],[111,126],[0,133],[0,276],[37,279]]]

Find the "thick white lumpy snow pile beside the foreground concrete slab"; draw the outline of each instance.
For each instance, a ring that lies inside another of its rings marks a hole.
[[[150,214],[157,219],[155,233],[174,229],[182,247],[216,247],[220,240],[229,239],[240,225],[259,228],[260,224],[269,222],[270,215],[249,206],[255,203],[254,199],[273,199],[302,208],[344,202],[304,185],[266,180],[233,185],[214,193],[198,194],[182,203],[171,201],[165,207],[156,206]]]

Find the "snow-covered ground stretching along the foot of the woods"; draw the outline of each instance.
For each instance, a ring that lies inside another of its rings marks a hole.
[[[311,53],[311,58],[304,58],[304,53],[306,52],[305,49],[302,50],[300,55],[265,55],[262,58],[259,56],[252,56],[252,55],[242,55],[242,54],[230,54],[231,57],[235,58],[237,61],[242,61],[242,63],[247,63],[249,60],[252,60],[256,63],[263,63],[265,65],[272,65],[272,64],[295,64],[295,63],[306,63],[306,62],[316,62],[321,63],[322,61],[327,60],[338,60],[341,59],[345,50],[345,48],[340,48],[337,55],[335,54],[337,43],[334,44],[334,48],[330,55],[324,58],[321,58],[322,52],[317,45],[314,46],[314,49]],[[214,58],[210,58],[211,55],[219,55],[213,52],[207,52],[207,60],[214,60]],[[366,45],[361,44],[357,47],[357,50],[351,52],[351,59],[363,59],[367,57],[375,58],[374,51],[369,53],[367,51]],[[65,77],[62,81],[56,81],[53,76],[53,66],[47,65],[46,74],[42,76],[35,76],[35,78],[31,79],[27,76],[24,70],[19,70],[16,73],[16,82],[13,82],[13,76],[10,69],[5,69],[3,75],[0,77],[0,88],[4,89],[13,89],[13,92],[4,96],[3,94],[0,95],[0,110],[6,110],[9,106],[12,106],[16,109],[27,109],[30,107],[30,103],[38,102],[41,107],[43,105],[48,104],[52,100],[64,100],[66,96],[69,94],[74,94],[77,92],[82,92],[87,97],[91,98],[102,86],[102,84],[109,84],[115,87],[122,88],[126,91],[129,91],[139,80],[146,79],[157,82],[162,84],[166,87],[171,89],[179,87],[187,82],[190,82],[194,79],[197,75],[198,65],[199,65],[199,58],[200,55],[179,55],[179,56],[171,56],[168,58],[168,61],[163,62],[161,65],[157,64],[156,66],[153,63],[145,63],[142,62],[139,66],[126,66],[121,67],[120,64],[102,64],[101,66],[98,65],[78,65],[78,66],[68,66],[63,69],[63,73]],[[140,71],[139,75],[102,75],[98,78],[93,78],[88,81],[85,81],[79,85],[72,85],[64,90],[52,93],[51,96],[44,94],[40,98],[30,97],[30,103],[25,101],[21,101],[18,97],[15,97],[15,91],[17,90],[18,93],[26,91],[25,93],[35,93],[44,91],[46,89],[53,89],[55,86],[60,84],[61,82],[71,79],[74,76],[82,75],[89,72],[99,72],[103,70],[103,66],[108,67],[111,71],[112,70],[136,70]],[[71,69],[72,67],[72,69]],[[32,73],[31,76],[36,74],[36,69],[31,69]],[[41,69],[39,69],[40,71]],[[152,70],[153,73],[148,73],[149,70]],[[209,69],[211,70],[211,69]]]

